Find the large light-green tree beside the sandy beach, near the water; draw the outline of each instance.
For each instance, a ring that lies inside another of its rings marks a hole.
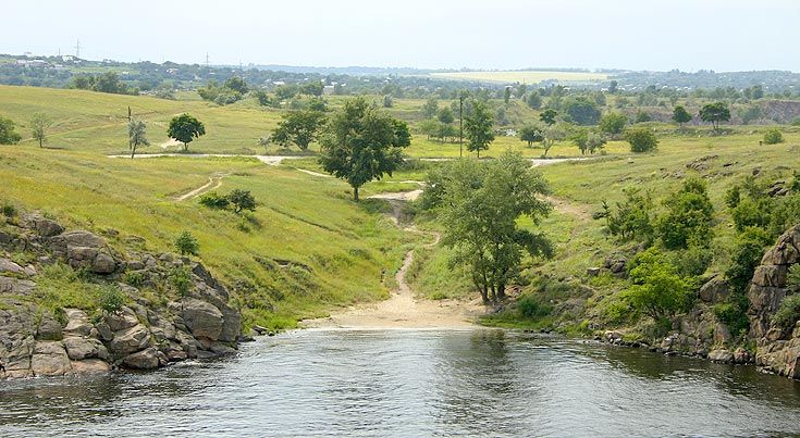
[[[516,222],[526,215],[538,224],[551,211],[541,200],[549,191],[542,175],[513,152],[488,163],[457,160],[429,175],[423,204],[447,224],[442,242],[453,248],[450,263],[469,266],[484,303],[505,299],[525,254],[553,254],[542,234],[520,229]]]

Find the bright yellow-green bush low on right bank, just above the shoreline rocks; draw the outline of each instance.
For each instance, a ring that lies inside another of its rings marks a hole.
[[[637,254],[630,265],[632,285],[625,290],[624,298],[632,308],[661,321],[691,304],[692,281],[682,277],[655,248]]]

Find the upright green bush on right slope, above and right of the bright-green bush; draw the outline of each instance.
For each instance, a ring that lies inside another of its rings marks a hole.
[[[689,178],[664,200],[667,211],[656,223],[659,236],[667,249],[686,249],[690,243],[707,247],[713,238],[714,207],[707,186],[700,178]]]

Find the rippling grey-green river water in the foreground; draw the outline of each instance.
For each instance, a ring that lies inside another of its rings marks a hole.
[[[800,383],[502,330],[301,330],[224,360],[0,381],[0,436],[787,436]]]

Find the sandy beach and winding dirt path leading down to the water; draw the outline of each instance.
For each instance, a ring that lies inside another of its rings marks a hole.
[[[415,190],[417,191],[417,190]],[[406,196],[408,192],[404,192]],[[395,196],[395,197],[385,197]],[[381,198],[379,198],[381,197]],[[392,220],[395,224],[403,221],[402,209],[405,199],[401,193],[376,195],[372,198],[387,199],[392,203]],[[407,197],[406,197],[407,198]],[[430,236],[430,242],[424,248],[432,248],[439,243],[441,235],[436,231],[423,231],[415,226],[404,228],[409,233],[419,233]],[[406,275],[414,263],[415,251],[408,251],[403,265],[395,275],[397,290],[384,301],[372,304],[350,306],[344,312],[332,314],[325,318],[306,320],[301,322],[308,328],[357,328],[357,329],[386,329],[386,328],[438,328],[438,329],[469,329],[473,328],[472,321],[485,313],[480,299],[463,300],[428,300],[415,298],[414,290]]]

